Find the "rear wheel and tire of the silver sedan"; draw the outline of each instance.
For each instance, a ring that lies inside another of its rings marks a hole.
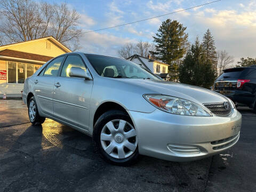
[[[45,121],[45,117],[39,116],[34,97],[31,97],[28,102],[28,118],[33,125],[41,125]]]

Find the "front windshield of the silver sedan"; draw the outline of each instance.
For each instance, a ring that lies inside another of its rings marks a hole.
[[[103,77],[111,78],[143,78],[157,79],[154,74],[149,73],[138,64],[113,57],[85,54],[97,73]]]

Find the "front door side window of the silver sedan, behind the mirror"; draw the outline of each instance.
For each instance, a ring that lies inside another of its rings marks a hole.
[[[68,55],[62,70],[61,70],[61,77],[69,77],[69,70],[71,67],[79,67],[82,68],[86,72],[86,68],[84,66],[84,62],[82,59],[77,55]]]

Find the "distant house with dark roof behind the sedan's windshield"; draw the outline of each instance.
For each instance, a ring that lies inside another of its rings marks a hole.
[[[151,59],[150,55],[148,55],[148,57],[146,58],[142,57],[141,55],[134,54],[131,57],[127,58],[127,60],[130,60],[140,66],[145,67],[146,69],[150,70],[152,73],[161,77],[165,81],[169,80],[168,67],[170,65],[161,61],[157,61],[155,59]]]

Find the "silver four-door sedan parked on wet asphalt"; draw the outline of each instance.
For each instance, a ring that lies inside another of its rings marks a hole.
[[[191,161],[235,145],[241,114],[221,94],[165,82],[124,59],[67,53],[25,81],[32,124],[45,117],[88,134],[103,159],[130,165],[139,154]]]

